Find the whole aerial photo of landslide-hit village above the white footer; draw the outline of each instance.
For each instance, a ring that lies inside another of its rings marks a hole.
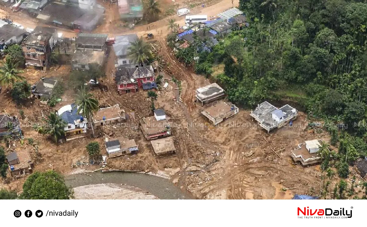
[[[0,0],[0,199],[366,199],[367,4],[303,2]]]

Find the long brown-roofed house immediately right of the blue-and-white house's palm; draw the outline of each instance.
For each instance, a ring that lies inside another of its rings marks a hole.
[[[111,125],[114,123],[120,123],[126,120],[125,111],[120,109],[119,105],[116,104],[113,107],[101,108],[94,114],[93,126],[104,126]]]

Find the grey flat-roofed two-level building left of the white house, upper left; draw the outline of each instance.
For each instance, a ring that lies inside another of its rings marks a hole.
[[[80,33],[75,40],[72,69],[89,70],[91,64],[103,66],[106,58],[105,34]]]

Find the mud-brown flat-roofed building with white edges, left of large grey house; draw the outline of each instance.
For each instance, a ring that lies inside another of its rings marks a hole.
[[[206,116],[214,125],[218,125],[223,120],[237,114],[238,111],[239,109],[235,105],[219,101],[217,104],[201,111],[201,114]]]

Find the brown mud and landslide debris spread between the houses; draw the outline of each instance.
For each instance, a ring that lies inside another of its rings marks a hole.
[[[176,1],[179,3],[180,1]],[[219,12],[232,7],[232,1],[225,0],[206,1],[205,8],[195,7],[193,12],[216,15]],[[216,3],[216,4],[214,4]],[[212,6],[209,6],[211,5]],[[238,1],[235,1],[238,4]],[[146,25],[136,26],[128,30],[122,26],[116,26],[115,6],[106,9],[107,19],[94,32],[109,33],[109,36],[123,33],[147,33]],[[111,13],[109,13],[111,11]],[[6,12],[3,12],[6,14]],[[8,13],[15,17],[14,13]],[[172,15],[179,23],[182,18]],[[21,22],[21,21],[19,21]],[[33,22],[33,21],[30,21]],[[180,24],[182,25],[183,22]],[[30,25],[31,26],[31,25]],[[299,112],[293,127],[284,127],[270,134],[266,133],[250,117],[250,111],[241,109],[240,112],[220,123],[216,127],[208,124],[208,120],[201,115],[202,109],[207,107],[195,102],[195,90],[198,87],[210,84],[211,81],[204,76],[196,75],[192,69],[185,68],[178,62],[172,50],[167,47],[165,36],[167,35],[167,19],[161,19],[150,25],[150,31],[160,32],[152,40],[154,53],[157,57],[160,71],[164,72],[163,82],[168,83],[167,89],[162,88],[157,92],[156,108],[164,108],[170,122],[174,125],[175,155],[156,158],[149,141],[146,141],[138,128],[139,121],[152,115],[150,99],[145,91],[118,95],[113,79],[114,56],[109,55],[106,64],[106,78],[102,78],[103,89],[94,89],[92,93],[97,97],[101,106],[119,104],[129,115],[126,125],[128,127],[106,126],[95,131],[96,138],[86,138],[68,141],[56,145],[46,136],[38,134],[32,129],[32,124],[40,123],[42,118],[63,105],[70,104],[74,100],[74,91],[68,90],[70,66],[62,65],[51,68],[47,73],[26,69],[23,76],[28,83],[34,83],[42,76],[53,76],[61,79],[66,85],[62,102],[55,107],[43,105],[39,100],[31,100],[24,105],[16,105],[3,89],[0,94],[0,112],[6,112],[19,116],[19,111],[24,111],[21,119],[25,125],[23,136],[33,138],[38,144],[38,151],[34,146],[26,142],[14,141],[13,145],[21,149],[28,149],[35,163],[34,171],[54,169],[62,174],[79,173],[85,170],[99,169],[99,165],[88,164],[89,158],[86,145],[91,141],[98,141],[102,154],[105,138],[116,138],[121,135],[135,139],[139,146],[136,155],[126,155],[108,159],[108,169],[136,170],[153,173],[164,173],[171,177],[171,181],[182,189],[188,190],[196,198],[205,199],[290,199],[294,194],[308,194],[311,190],[317,192],[320,189],[321,171],[319,166],[302,167],[295,165],[290,158],[290,152],[297,144],[305,140],[323,139],[329,141],[328,134],[320,131],[316,133],[308,130],[306,115]],[[150,32],[149,31],[149,32]],[[73,37],[73,33],[69,34]],[[110,52],[111,53],[111,52]],[[172,77],[181,81],[181,89],[173,82]],[[179,92],[181,90],[181,93]],[[4,145],[4,144],[1,144]],[[284,148],[284,149],[283,149]],[[275,151],[279,152],[273,152]],[[335,179],[336,181],[337,179]],[[7,184],[1,184],[0,188],[22,190],[25,178],[11,179]],[[116,198],[126,197],[124,190],[117,190],[120,186],[101,185],[116,188]],[[121,187],[124,189],[124,187]],[[288,190],[283,190],[288,188]],[[93,191],[95,188],[88,188]],[[128,190],[135,190],[127,188]],[[121,192],[122,191],[122,192]],[[94,198],[87,191],[77,191],[79,198]],[[139,192],[140,193],[140,192]],[[139,198],[146,195],[139,194]],[[106,194],[107,196],[107,194]],[[149,196],[148,196],[149,197]],[[154,198],[154,197],[152,197]]]

